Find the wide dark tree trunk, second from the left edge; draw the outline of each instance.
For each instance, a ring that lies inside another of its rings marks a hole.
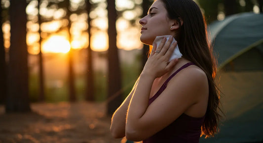
[[[10,0],[10,49],[6,113],[28,112],[29,81],[28,52],[26,43],[26,0]]]

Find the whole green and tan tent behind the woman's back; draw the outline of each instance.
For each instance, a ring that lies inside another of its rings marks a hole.
[[[232,15],[208,32],[225,119],[219,134],[200,143],[263,143],[263,14]]]

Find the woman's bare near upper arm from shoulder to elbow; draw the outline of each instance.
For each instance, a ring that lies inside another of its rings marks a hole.
[[[166,89],[139,120],[138,136],[148,138],[171,124],[207,93],[207,78],[199,68],[187,68],[171,79]]]

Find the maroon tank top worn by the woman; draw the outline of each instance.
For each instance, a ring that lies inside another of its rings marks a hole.
[[[149,99],[149,105],[162,93],[166,88],[168,82],[182,69],[194,65],[192,62],[188,62],[174,72],[160,87],[160,89]],[[175,109],[176,110],[176,109]],[[187,114],[180,115],[170,125],[152,135],[143,143],[199,143],[201,126],[204,121],[204,117],[196,118]]]

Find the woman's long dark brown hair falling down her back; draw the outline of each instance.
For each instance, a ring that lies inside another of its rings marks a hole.
[[[209,84],[208,106],[202,125],[202,135],[214,136],[221,117],[219,114],[220,92],[215,83],[217,62],[212,46],[208,44],[206,22],[199,6],[193,0],[161,0],[170,19],[183,20],[175,39],[182,55],[194,62],[206,74]]]

